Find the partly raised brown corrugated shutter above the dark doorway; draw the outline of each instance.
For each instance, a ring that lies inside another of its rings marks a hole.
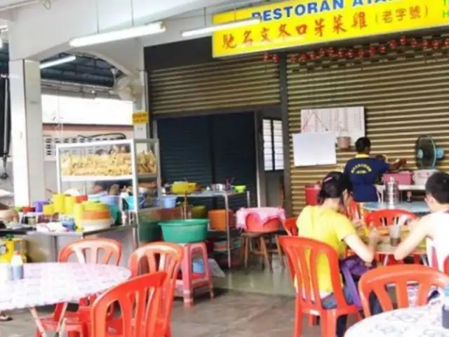
[[[260,55],[150,72],[155,115],[279,104],[279,72]]]

